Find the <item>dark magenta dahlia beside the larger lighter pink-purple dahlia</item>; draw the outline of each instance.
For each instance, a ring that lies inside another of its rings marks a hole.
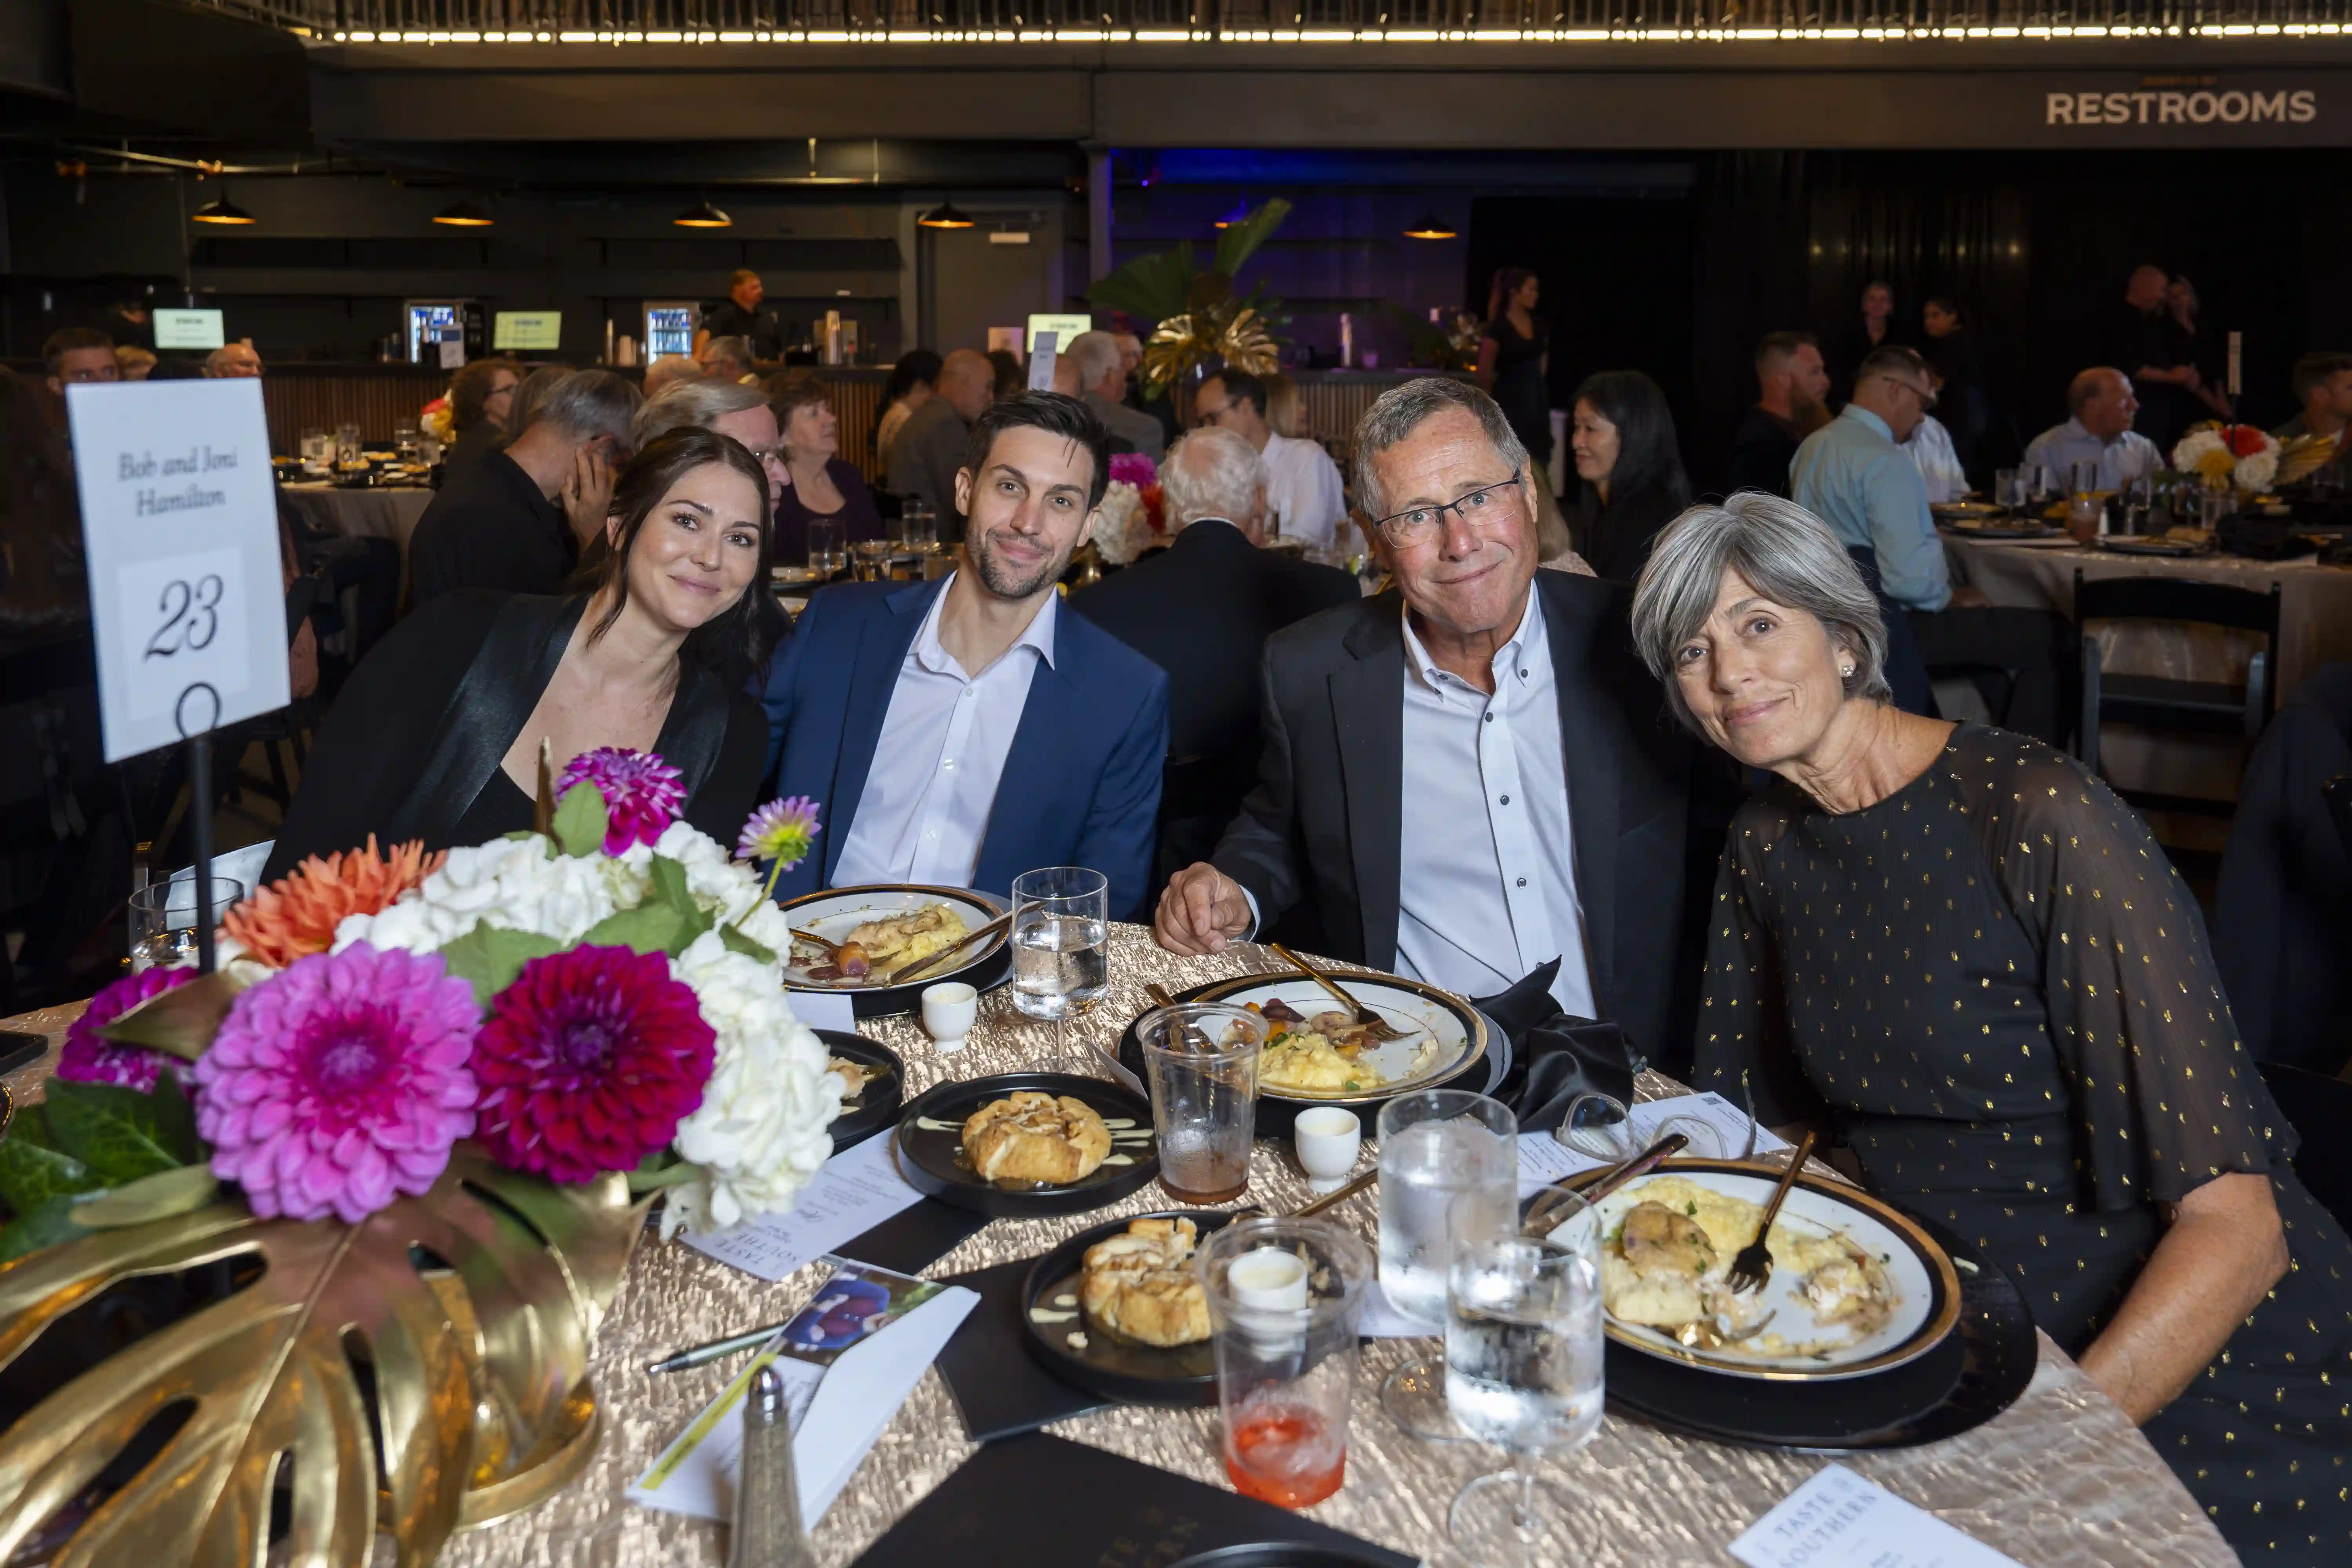
[[[499,1164],[560,1182],[635,1171],[703,1103],[715,1046],[659,952],[532,959],[473,1041],[480,1138]]]

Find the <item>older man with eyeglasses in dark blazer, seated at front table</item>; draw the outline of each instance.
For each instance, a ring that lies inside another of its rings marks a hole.
[[[1630,590],[1536,571],[1526,449],[1468,383],[1383,393],[1355,494],[1395,588],[1268,642],[1258,785],[1152,933],[1216,952],[1305,905],[1322,952],[1461,994],[1557,959],[1564,1013],[1686,1060],[1686,917],[1722,839],[1686,825],[1691,748],[1661,722]]]

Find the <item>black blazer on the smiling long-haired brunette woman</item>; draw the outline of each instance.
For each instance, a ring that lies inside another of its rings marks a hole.
[[[449,849],[572,644],[586,595],[452,592],[412,614],[343,684],[303,769],[263,877],[303,856]],[[767,715],[717,675],[682,663],[654,750],[684,773],[684,818],[734,846],[767,766]],[[529,827],[529,820],[520,823]]]

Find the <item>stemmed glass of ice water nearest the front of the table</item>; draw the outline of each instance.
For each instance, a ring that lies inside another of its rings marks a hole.
[[[1496,1213],[1475,1194],[1449,1220],[1446,1408],[1510,1450],[1510,1467],[1465,1486],[1446,1514],[1446,1537],[1477,1568],[1545,1561],[1536,1509],[1569,1500],[1536,1462],[1602,1429],[1599,1211],[1573,1194],[1550,1201],[1566,1206],[1543,1237],[1519,1229],[1517,1206]]]

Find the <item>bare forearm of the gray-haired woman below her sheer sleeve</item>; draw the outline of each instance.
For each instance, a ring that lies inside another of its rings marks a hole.
[[[2267,1175],[2232,1171],[2180,1199],[2082,1371],[2133,1425],[2180,1396],[2286,1274],[2286,1232]]]

